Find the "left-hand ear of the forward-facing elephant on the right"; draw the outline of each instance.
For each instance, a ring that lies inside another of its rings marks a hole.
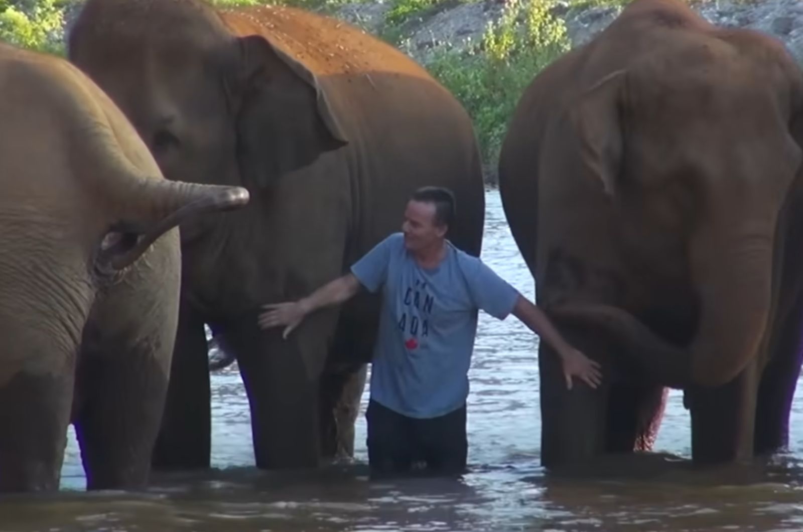
[[[607,194],[617,191],[622,170],[622,89],[626,72],[618,70],[585,90],[570,113],[581,143],[581,157]]]

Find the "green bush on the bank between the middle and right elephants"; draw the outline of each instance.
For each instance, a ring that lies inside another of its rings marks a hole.
[[[551,0],[525,1],[508,3],[475,50],[442,52],[429,64],[430,72],[471,115],[483,159],[493,166],[524,88],[569,50],[565,24],[552,15]]]

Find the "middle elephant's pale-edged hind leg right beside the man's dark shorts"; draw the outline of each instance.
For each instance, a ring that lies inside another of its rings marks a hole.
[[[324,459],[354,456],[354,424],[368,365],[329,368],[320,379],[320,436]]]

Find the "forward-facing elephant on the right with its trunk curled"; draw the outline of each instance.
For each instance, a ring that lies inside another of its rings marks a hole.
[[[662,387],[683,389],[694,464],[785,444],[803,324],[801,87],[776,39],[635,0],[525,90],[501,150],[503,209],[538,302],[608,375],[568,393],[541,345],[545,466],[633,452]]]

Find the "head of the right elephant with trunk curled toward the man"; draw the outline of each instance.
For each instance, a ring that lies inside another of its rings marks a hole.
[[[589,183],[604,190],[625,235],[668,243],[662,268],[695,287],[690,344],[665,342],[613,306],[549,309],[607,329],[675,387],[728,383],[760,352],[777,291],[778,221],[801,166],[793,59],[759,35],[709,31],[601,76],[570,113]]]

